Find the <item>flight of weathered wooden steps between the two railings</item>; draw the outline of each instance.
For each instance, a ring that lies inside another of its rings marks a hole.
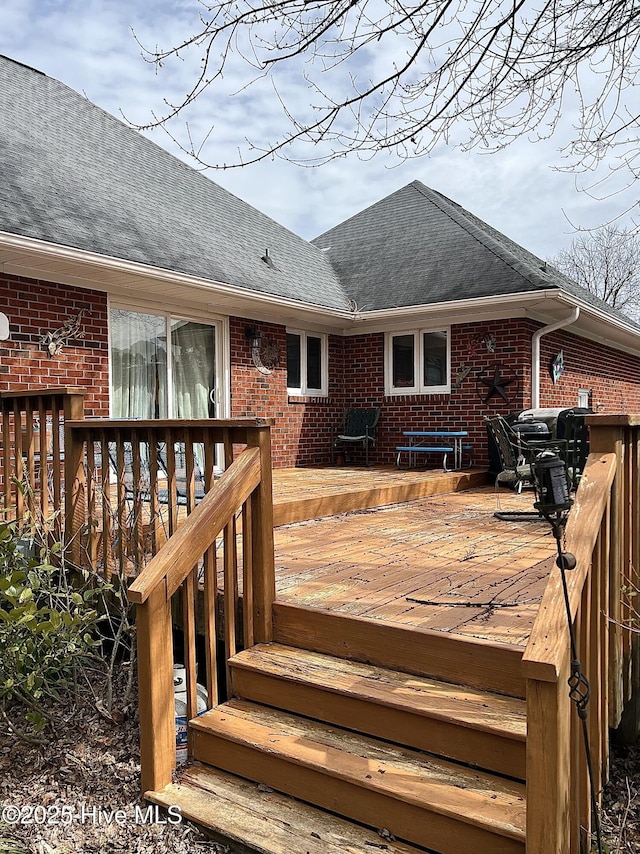
[[[304,614],[283,611],[286,636]],[[365,622],[340,618],[341,641],[357,647]],[[438,660],[441,636],[407,631],[432,666],[406,673],[396,667],[402,629],[390,629],[385,666],[373,650],[358,653],[369,663],[323,651],[334,615],[316,613],[315,627],[315,649],[275,641],[233,656],[232,698],[190,723],[195,763],[147,797],[265,854],[523,854],[525,702],[495,690],[497,680],[522,694],[511,678],[521,650],[481,644],[478,658],[491,647],[497,667],[489,690],[481,671],[472,687],[433,676],[455,672],[456,656],[459,672],[472,672],[473,642],[453,642]]]

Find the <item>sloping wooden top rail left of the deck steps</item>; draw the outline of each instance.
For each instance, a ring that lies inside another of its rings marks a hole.
[[[233,519],[260,483],[260,451],[247,448],[189,514],[184,524],[129,585],[130,602],[142,604],[159,584],[167,599],[191,572],[204,552]]]

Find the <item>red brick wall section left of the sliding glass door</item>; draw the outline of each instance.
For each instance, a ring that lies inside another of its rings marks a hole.
[[[42,336],[74,320],[81,309],[84,337],[70,341],[59,356],[50,356]],[[0,274],[0,311],[10,329],[9,340],[0,341],[0,390],[83,386],[86,414],[108,416],[105,294]]]

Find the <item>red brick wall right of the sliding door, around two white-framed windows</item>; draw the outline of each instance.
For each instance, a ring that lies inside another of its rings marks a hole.
[[[395,462],[395,446],[403,430],[467,429],[474,463],[488,461],[483,415],[528,409],[531,405],[531,340],[540,324],[526,319],[462,324],[452,327],[451,394],[393,395],[384,393],[384,334],[349,336],[329,340],[329,397],[287,398],[286,366],[270,377],[258,374],[244,338],[246,321],[231,323],[234,352],[232,414],[264,415],[276,419],[273,434],[274,464],[322,465],[330,458],[331,431],[347,406],[379,406],[378,443],[371,455],[377,463]],[[284,360],[282,327],[256,324],[273,336]],[[489,342],[490,347],[487,346]],[[491,348],[491,349],[490,349]],[[565,370],[554,385],[548,367],[563,350]],[[576,406],[579,389],[593,389],[598,411],[640,411],[640,360],[576,338],[566,331],[544,336],[540,405]],[[480,376],[491,378],[496,366],[502,377],[515,376],[505,385],[508,400],[494,395]]]

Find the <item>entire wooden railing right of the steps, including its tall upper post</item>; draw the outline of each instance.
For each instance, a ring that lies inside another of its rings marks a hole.
[[[563,551],[578,659],[590,685],[587,740],[594,795],[608,779],[609,726],[638,688],[629,592],[638,587],[640,419],[590,417],[591,450]],[[607,453],[614,451],[614,453]],[[635,638],[635,640],[634,640]],[[589,850],[592,792],[583,722],[569,697],[572,655],[554,567],[523,656],[527,680],[527,854]],[[624,665],[624,666],[623,666]]]

